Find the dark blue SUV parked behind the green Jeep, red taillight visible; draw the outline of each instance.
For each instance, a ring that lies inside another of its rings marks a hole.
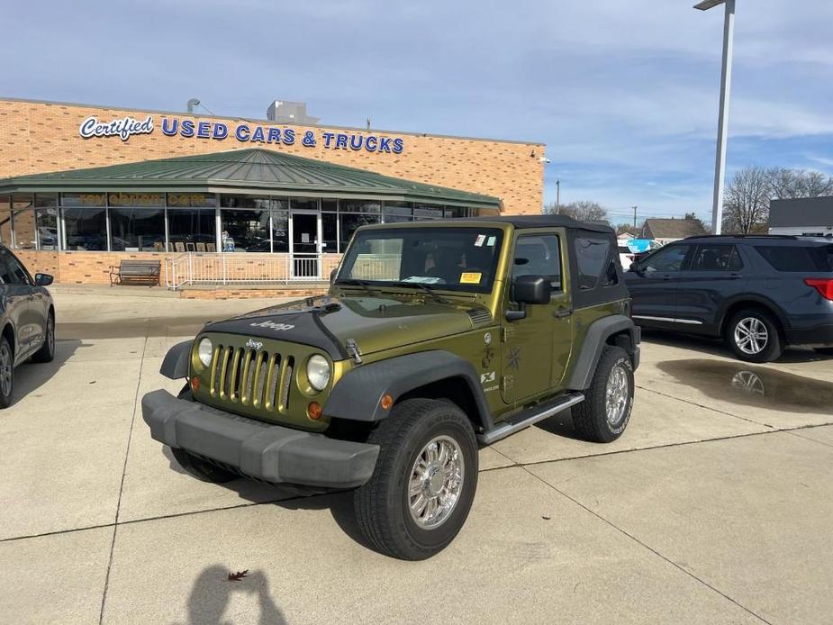
[[[722,337],[749,362],[787,345],[833,353],[833,240],[692,237],[633,263],[625,281],[639,325]]]

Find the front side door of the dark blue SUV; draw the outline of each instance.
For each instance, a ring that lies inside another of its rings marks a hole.
[[[689,243],[672,243],[638,262],[638,268],[630,267],[625,281],[633,298],[634,321],[661,327],[674,325],[679,280],[693,248]]]

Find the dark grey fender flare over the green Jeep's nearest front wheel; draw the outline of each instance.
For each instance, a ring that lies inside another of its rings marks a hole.
[[[328,417],[349,421],[379,421],[389,414],[381,405],[385,394],[390,394],[395,403],[403,394],[420,386],[454,377],[461,378],[475,398],[478,413],[469,415],[475,426],[484,430],[491,428],[492,415],[475,368],[463,358],[440,349],[352,369],[333,386],[323,412]]]

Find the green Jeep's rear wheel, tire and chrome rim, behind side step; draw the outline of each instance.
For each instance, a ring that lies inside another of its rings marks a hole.
[[[573,426],[587,440],[610,443],[625,431],[633,411],[633,362],[620,347],[607,345],[584,402],[575,405]]]

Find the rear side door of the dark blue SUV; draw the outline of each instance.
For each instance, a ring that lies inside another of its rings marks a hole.
[[[723,303],[741,293],[747,282],[747,270],[738,246],[698,245],[678,279],[675,319],[680,329],[716,334]]]

